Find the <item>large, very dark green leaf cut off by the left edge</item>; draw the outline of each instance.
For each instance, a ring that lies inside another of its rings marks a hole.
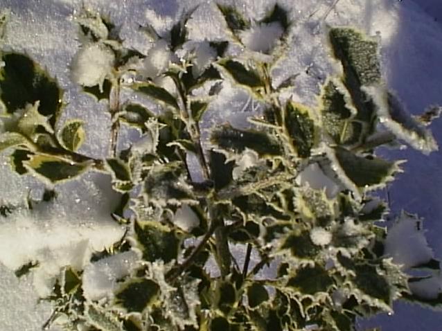
[[[55,80],[27,55],[3,53],[1,61],[5,65],[0,69],[0,98],[8,113],[39,101],[39,113],[52,116],[54,125],[62,107],[62,91]]]

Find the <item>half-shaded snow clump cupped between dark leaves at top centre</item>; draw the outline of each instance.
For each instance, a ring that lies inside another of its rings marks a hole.
[[[242,31],[240,33],[240,39],[251,51],[267,53],[273,48],[281,35],[283,35],[283,32],[281,24],[277,22],[260,24],[249,30]]]

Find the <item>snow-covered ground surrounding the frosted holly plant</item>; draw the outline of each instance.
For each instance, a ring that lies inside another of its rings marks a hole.
[[[272,5],[272,1],[268,0],[220,2],[242,6],[242,10],[256,19],[262,17]],[[426,12],[411,0],[340,0],[330,12],[329,8],[335,0],[279,2],[292,8],[292,19],[295,24],[290,53],[274,71],[277,81],[282,81],[293,73],[299,73],[297,87],[288,94],[288,97],[292,95],[294,100],[315,105],[317,102],[315,95],[319,91],[320,82],[328,73],[339,72],[339,66],[330,61],[326,37],[321,30],[324,28],[322,22],[330,26],[358,26],[369,35],[380,38],[385,78],[389,87],[396,91],[411,113],[419,114],[428,105],[442,104],[440,63],[442,28],[439,21],[435,21],[435,19],[442,20],[439,0],[416,0]],[[227,35],[222,19],[213,6],[214,1],[1,0],[0,8],[11,10],[6,47],[28,53],[37,62],[46,66],[51,75],[58,78],[60,86],[65,90],[64,100],[69,103],[65,111],[66,116],[81,117],[86,123],[87,140],[80,152],[104,157],[108,150],[110,125],[109,116],[104,111],[105,103],[103,101],[95,103],[92,98],[80,93],[80,88],[71,82],[69,69],[69,64],[80,46],[76,40],[77,26],[71,16],[74,9],[80,10],[82,3],[109,14],[117,26],[122,26],[121,37],[125,40],[125,44],[142,53],[148,53],[151,45],[137,30],[139,24],[143,25],[149,21],[161,33],[170,28],[183,8],[190,8],[196,3],[201,3],[201,6],[188,24],[191,38],[226,39]],[[251,39],[256,33],[251,31],[245,38]],[[265,48],[266,45],[254,44],[254,46]],[[201,59],[201,62],[204,62],[204,59]],[[226,88],[221,96],[227,99],[218,100],[211,105],[204,118],[204,127],[207,129],[226,118],[232,123],[246,125],[245,119],[251,113],[241,110],[250,110],[254,106],[253,102],[249,102],[247,93]],[[441,127],[440,122],[432,126],[439,144],[442,142]],[[123,136],[130,134],[123,133]],[[399,208],[405,208],[410,213],[418,213],[423,217],[425,219],[423,226],[431,230],[426,233],[430,247],[434,249],[436,258],[441,258],[442,242],[439,240],[442,233],[442,227],[439,225],[439,217],[442,215],[441,152],[433,153],[429,157],[413,150],[388,150],[385,153],[397,159],[409,159],[403,165],[405,173],[400,175],[389,188],[392,210],[398,213]],[[8,169],[7,162],[7,157],[0,155],[0,202],[24,203],[29,192],[33,197],[39,197],[42,185],[37,184],[35,179],[13,174]],[[19,215],[17,219],[11,219],[10,224],[6,225],[7,220],[1,220],[0,247],[3,255],[0,255],[0,260],[3,264],[13,269],[19,258],[26,260],[32,256],[35,249],[34,256],[39,256],[41,253],[42,256],[46,254],[48,257],[47,268],[57,267],[55,261],[60,254],[58,251],[64,247],[63,244],[67,244],[60,238],[54,239],[58,230],[64,231],[63,233],[66,233],[71,240],[74,238],[89,240],[87,244],[83,243],[85,259],[91,248],[105,247],[118,240],[121,229],[118,229],[109,217],[109,209],[115,197],[110,197],[108,200],[109,197],[103,195],[103,188],[100,188],[103,181],[95,177],[89,174],[82,176],[79,184],[60,184],[57,188],[60,190],[61,204],[69,201],[69,206],[65,208],[59,206],[51,212],[53,214],[41,211],[40,218],[44,220],[41,222],[42,229],[36,229],[36,220],[26,220],[26,215]],[[97,205],[98,213],[94,213]],[[33,240],[25,240],[29,234],[20,231],[19,217],[22,217],[21,222],[27,222],[29,229],[35,230]],[[51,227],[52,233],[45,232],[43,228],[45,222]],[[113,233],[107,238],[108,242],[99,242],[98,233],[94,233],[94,229],[98,226],[108,226],[105,229]],[[15,242],[15,238],[21,240]],[[38,238],[41,242],[37,242]],[[11,245],[14,243],[15,250],[10,251],[10,256],[3,251],[9,247],[8,240]],[[97,246],[94,247],[94,244]],[[69,256],[64,258],[69,260]],[[39,330],[50,314],[50,307],[37,305],[37,294],[32,285],[35,279],[32,275],[17,280],[12,271],[6,267],[0,266],[0,330]],[[89,269],[97,272],[101,270],[100,266]],[[98,278],[90,278],[91,284]],[[109,286],[112,287],[112,282]],[[97,293],[91,292],[91,295],[99,295]],[[371,321],[361,322],[361,325],[364,325],[364,328],[382,325],[382,330],[385,331],[438,330],[442,325],[442,314],[435,314],[404,303],[396,304],[395,308],[394,316],[380,316]]]

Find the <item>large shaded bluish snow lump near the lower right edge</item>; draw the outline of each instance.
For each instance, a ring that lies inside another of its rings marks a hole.
[[[388,230],[384,255],[393,258],[394,263],[403,265],[404,269],[428,262],[434,254],[424,233],[422,220],[403,211]]]

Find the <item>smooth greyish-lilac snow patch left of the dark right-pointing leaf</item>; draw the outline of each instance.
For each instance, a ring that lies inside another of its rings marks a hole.
[[[308,185],[315,190],[326,190],[328,199],[336,197],[340,187],[326,176],[318,163],[312,163],[304,168],[298,175],[296,182],[299,186]]]

